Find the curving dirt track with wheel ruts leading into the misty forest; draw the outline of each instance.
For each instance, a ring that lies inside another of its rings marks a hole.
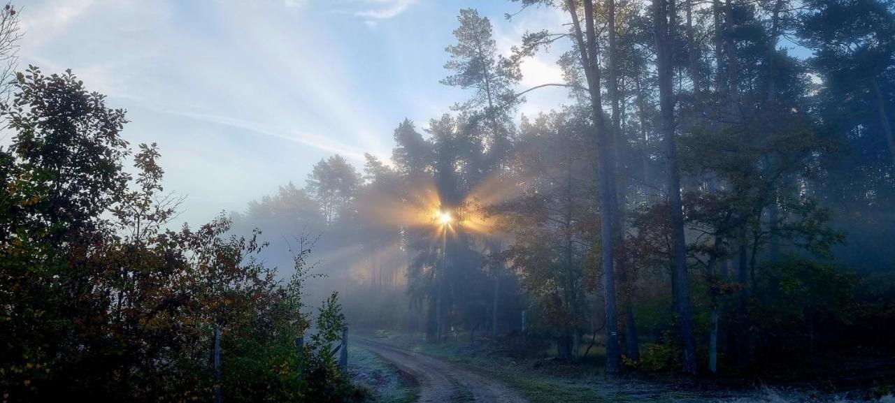
[[[516,390],[502,382],[474,374],[460,365],[388,346],[375,340],[354,338],[366,348],[413,377],[419,385],[419,402],[524,403]]]

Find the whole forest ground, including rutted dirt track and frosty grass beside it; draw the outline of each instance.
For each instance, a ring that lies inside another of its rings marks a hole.
[[[390,370],[388,376],[400,381],[396,388],[413,390],[405,393],[403,400],[383,399],[391,393],[391,386],[379,384],[370,388],[377,402],[895,403],[891,395],[874,398],[874,393],[879,394],[874,390],[831,392],[795,386],[719,386],[715,382],[670,377],[626,376],[609,380],[596,365],[495,357],[482,344],[435,344],[418,335],[377,332],[355,336],[353,344],[354,348],[366,349],[362,357],[375,354],[384,372]]]

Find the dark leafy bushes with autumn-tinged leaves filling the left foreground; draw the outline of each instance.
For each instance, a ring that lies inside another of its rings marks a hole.
[[[225,399],[359,399],[331,365],[299,365],[310,248],[283,284],[259,263],[260,231],[227,235],[223,216],[163,230],[179,199],[163,193],[158,148],[140,145],[135,176],[124,172],[124,111],[71,71],[20,73],[3,115],[14,131],[0,149],[4,399],[208,401],[215,327]],[[321,311],[326,334],[344,328],[339,309],[333,296]]]

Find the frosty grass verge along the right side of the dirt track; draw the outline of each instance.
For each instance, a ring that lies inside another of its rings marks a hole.
[[[669,402],[669,403],[895,403],[891,390],[877,397],[829,394],[818,390],[787,388],[724,388],[712,382],[673,376],[626,376],[607,379],[602,371],[603,351],[592,348],[583,364],[564,364],[550,359],[514,359],[490,354],[486,343],[465,340],[429,343],[420,336],[380,332],[377,338],[397,347],[417,351],[499,379],[523,394],[531,403]],[[584,353],[584,350],[581,351]]]

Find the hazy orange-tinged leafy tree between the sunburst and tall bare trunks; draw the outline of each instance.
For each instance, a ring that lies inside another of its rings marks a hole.
[[[595,288],[599,267],[589,260],[599,243],[599,222],[585,124],[574,110],[524,119],[514,178],[519,195],[494,207],[503,228],[516,237],[504,257],[521,274],[532,331],[557,339],[564,358],[572,358],[570,340],[586,332],[586,292]]]

